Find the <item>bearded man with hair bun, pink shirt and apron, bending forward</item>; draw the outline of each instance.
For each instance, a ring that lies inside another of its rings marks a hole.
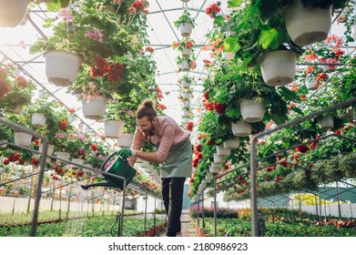
[[[159,163],[162,181],[162,197],[168,216],[168,237],[180,235],[180,216],[183,205],[183,189],[186,178],[191,176],[192,148],[190,132],[180,128],[171,117],[157,116],[153,101],[146,99],[136,113],[137,130],[131,148],[122,148],[117,154],[128,158],[132,167],[137,158]],[[143,141],[158,148],[157,152],[139,149]]]

